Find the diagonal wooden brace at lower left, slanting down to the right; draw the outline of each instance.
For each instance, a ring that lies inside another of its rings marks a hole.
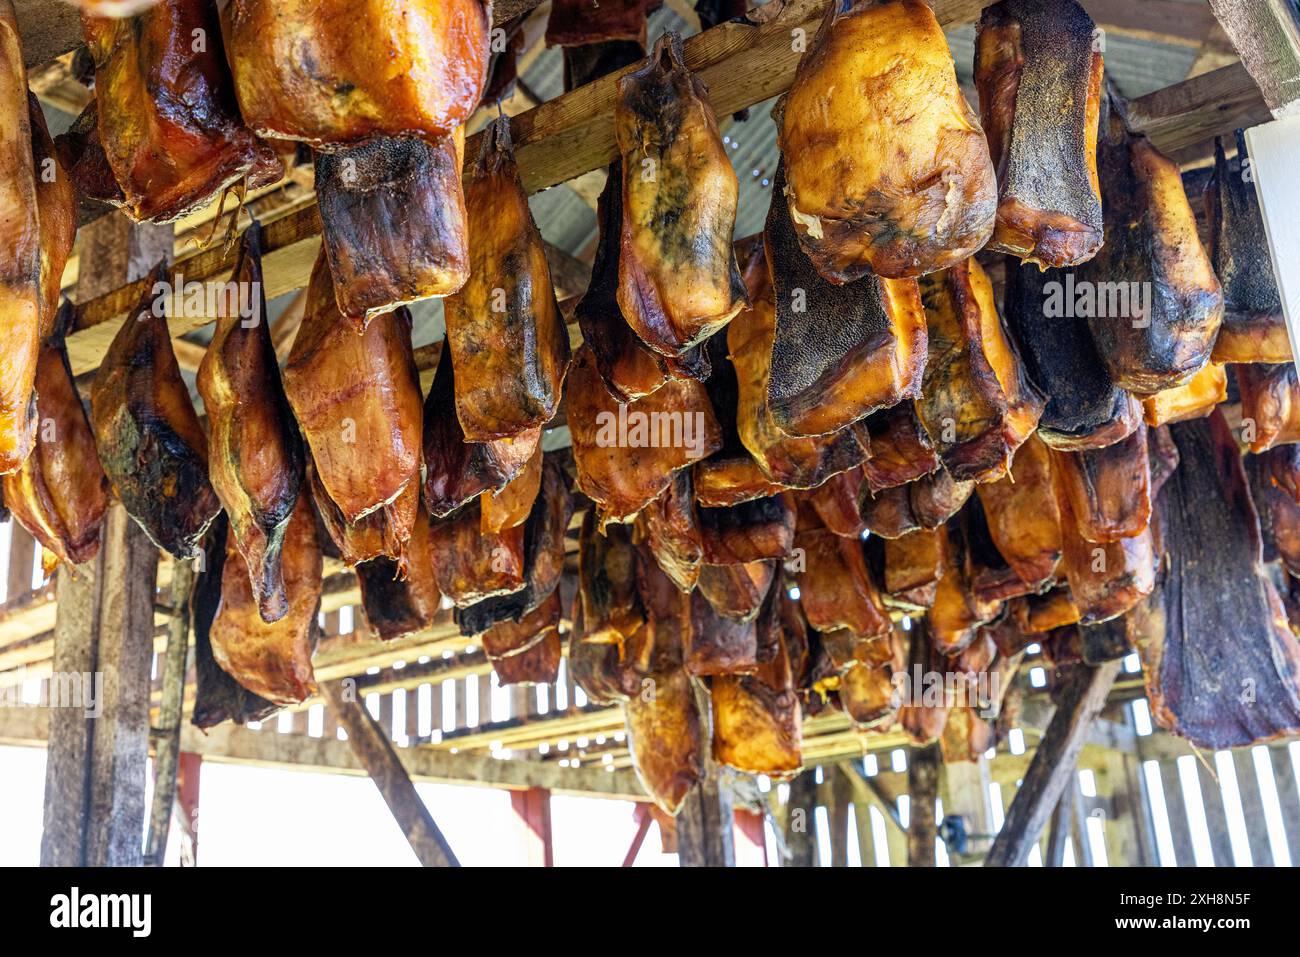
[[[425,867],[459,867],[456,856],[433,823],[429,809],[424,806],[393,749],[387,732],[355,694],[344,692],[342,683],[326,681],[321,685],[321,693],[334,718],[347,731],[354,754],[380,789],[420,863]]]

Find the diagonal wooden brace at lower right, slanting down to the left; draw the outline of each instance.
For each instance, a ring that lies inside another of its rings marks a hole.
[[[1023,867],[1028,861],[1030,849],[1037,843],[1052,809],[1074,776],[1088,729],[1106,703],[1121,664],[1121,661],[1096,668],[1080,664],[1067,679],[1061,703],[1039,742],[1024,783],[1006,811],[1006,820],[993,840],[985,866]]]

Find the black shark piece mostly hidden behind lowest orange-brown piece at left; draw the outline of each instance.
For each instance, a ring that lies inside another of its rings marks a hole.
[[[226,516],[220,515],[203,541],[203,568],[195,576],[190,596],[194,616],[194,715],[196,728],[213,728],[222,722],[260,722],[280,710],[273,701],[257,697],[221,670],[212,657],[212,622],[221,606],[221,579],[226,560]]]

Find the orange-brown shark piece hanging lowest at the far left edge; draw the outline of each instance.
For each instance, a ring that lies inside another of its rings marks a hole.
[[[60,322],[70,320],[72,303]],[[99,464],[61,332],[40,347],[36,361],[40,439],[22,468],[4,477],[4,507],[44,546],[47,573],[53,572],[51,557],[68,564],[95,558],[108,510],[108,478]]]

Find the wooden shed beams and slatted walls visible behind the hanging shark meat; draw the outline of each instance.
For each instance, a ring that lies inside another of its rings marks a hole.
[[[515,31],[520,79],[499,108],[510,116],[523,183],[540,194],[533,212],[563,303],[586,289],[595,256],[595,200],[606,165],[618,157],[616,86],[603,77],[563,92],[560,56],[543,40],[550,5],[497,0],[493,18]],[[974,103],[972,25],[985,4],[931,5]],[[1284,124],[1300,108],[1300,16],[1288,0],[1082,5],[1105,34],[1108,73],[1130,100],[1132,130],[1176,160],[1188,182],[1213,161],[1216,138]],[[30,86],[53,131],[61,131],[90,98],[74,75],[82,47],[77,10],[62,0],[16,0],[14,7]],[[707,30],[689,0],[664,0],[650,17],[651,43],[664,30],[684,35],[685,62],[705,81],[723,118],[741,181],[738,237],[758,231],[767,209],[763,194],[771,192],[777,163],[768,111],[789,88],[802,55],[792,49],[792,31],[814,35],[828,7],[828,0],[771,0],[751,9],[748,21]],[[467,160],[478,155],[495,111],[480,107],[467,125]],[[733,117],[741,111],[749,111],[748,118]],[[1283,142],[1300,146],[1294,126],[1288,135]],[[1300,198],[1288,183],[1269,189],[1275,190],[1271,202]],[[250,216],[264,229],[264,289],[283,358],[321,246],[311,163],[251,191],[238,215],[240,228]],[[147,273],[159,259],[169,260],[173,277],[183,281],[230,274],[237,247],[203,242],[221,228],[221,213],[212,207],[166,226],[135,225],[120,212],[83,215],[62,285],[77,306],[66,350],[84,395],[118,328],[148,290]],[[1291,283],[1300,282],[1294,278],[1300,274],[1300,242],[1282,230],[1273,239],[1274,254],[1291,267]],[[1294,289],[1283,294],[1295,304]],[[424,306],[415,311],[415,355],[428,390],[443,324],[441,307]],[[186,316],[172,316],[169,326],[192,387],[190,373],[211,329],[204,319]],[[569,328],[576,345],[580,333]],[[568,446],[563,416],[562,408],[546,429],[547,451]],[[560,584],[566,607],[576,588],[581,518],[578,512],[571,525]],[[1236,814],[1254,865],[1282,862],[1279,839],[1291,859],[1300,854],[1300,749],[1279,740],[1256,753],[1210,754],[1153,729],[1136,655],[1076,666],[1066,675],[1031,646],[1019,671],[1014,728],[972,762],[945,765],[937,745],[911,746],[897,729],[862,732],[842,713],[823,711],[803,723],[802,775],[777,785],[715,767],[673,819],[654,809],[632,770],[620,707],[584,703],[562,668],[552,685],[510,689],[508,714],[500,714],[493,703],[502,696],[494,694],[491,664],[482,648],[460,635],[450,609],[416,635],[380,640],[367,627],[355,573],[338,560],[325,563],[324,629],[313,659],[318,694],[289,709],[278,727],[226,723],[204,733],[188,723],[187,563],[160,558],[120,505],[105,520],[99,558],[77,576],[61,568],[32,586],[40,546],[14,521],[0,529],[0,540],[8,542],[0,689],[39,681],[46,700],[51,675],[112,675],[105,710],[92,722],[44,707],[0,707],[0,744],[49,748],[43,863],[160,863],[168,822],[195,819],[204,762],[369,775],[425,865],[455,863],[455,854],[412,781],[508,789],[538,865],[551,862],[552,793],[636,801],[627,862],[653,853],[650,846],[642,852],[642,843],[658,823],[663,846],[675,848],[682,865],[731,865],[737,840],[763,846],[770,866],[815,865],[826,848],[829,861],[820,863],[845,866],[852,844],[866,866],[932,866],[936,841],[953,865],[1024,863],[1035,853],[1043,863],[1060,865],[1067,845],[1080,865],[1100,863],[1100,854],[1112,866],[1204,863],[1187,809],[1193,794],[1214,863],[1247,856],[1228,840],[1228,819]],[[572,628],[567,618],[564,628]],[[471,700],[477,714],[467,713]],[[394,722],[395,701],[403,702],[396,710],[404,727]],[[318,707],[325,711],[322,731],[308,733],[308,714]],[[162,775],[152,809],[144,805],[146,753]],[[1265,784],[1265,766],[1271,785]],[[179,784],[168,787],[177,768]],[[1079,771],[1087,772],[1087,792]],[[1234,772],[1235,785],[1225,788],[1225,775]],[[1265,802],[1273,800],[1268,787],[1275,789],[1283,835],[1270,835],[1265,822]],[[1225,794],[1231,796],[1227,804]],[[932,813],[936,798],[942,820]],[[170,831],[187,846],[196,843],[187,823]]]

